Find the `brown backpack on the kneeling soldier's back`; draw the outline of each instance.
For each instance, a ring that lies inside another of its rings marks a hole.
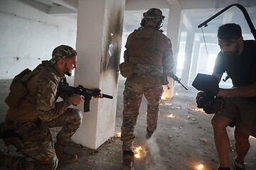
[[[24,69],[11,82],[10,93],[4,101],[10,108],[18,108],[24,96],[28,94],[28,89],[25,86],[26,81],[23,81],[23,79],[26,79],[29,73],[31,73],[30,69]]]

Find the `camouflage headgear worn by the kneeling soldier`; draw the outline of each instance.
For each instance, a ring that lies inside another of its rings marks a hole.
[[[55,47],[55,49],[53,50],[50,62],[55,63],[60,59],[75,57],[76,55],[77,52],[73,49],[73,47],[70,47],[68,45],[60,45],[58,47]]]

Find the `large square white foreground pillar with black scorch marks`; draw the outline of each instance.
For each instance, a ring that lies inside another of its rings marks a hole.
[[[92,98],[90,112],[83,113],[82,125],[72,137],[73,142],[91,149],[114,135],[124,5],[124,0],[78,1],[78,68],[74,84],[99,87],[103,94],[114,97]],[[78,108],[83,112],[83,103]]]

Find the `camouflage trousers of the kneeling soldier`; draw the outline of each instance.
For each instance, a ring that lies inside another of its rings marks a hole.
[[[78,109],[68,108],[63,115],[50,121],[41,120],[14,125],[18,137],[4,138],[8,145],[14,145],[16,152],[24,157],[10,157],[0,154],[6,167],[13,170],[53,170],[58,166],[53,138],[49,128],[63,127],[56,137],[58,145],[65,146],[82,123],[82,113]],[[10,125],[8,125],[10,128]]]

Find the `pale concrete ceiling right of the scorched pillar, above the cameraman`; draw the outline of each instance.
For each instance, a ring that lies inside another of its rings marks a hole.
[[[181,29],[183,32],[193,31],[198,33],[198,37],[202,39],[203,28],[203,33],[208,42],[215,42],[218,26],[223,23],[238,23],[242,27],[244,34],[252,35],[245,21],[245,16],[236,6],[229,8],[220,16],[214,18],[208,23],[207,27],[198,28],[198,25],[231,4],[241,4],[244,6],[249,13],[252,23],[256,26],[256,0],[127,0],[124,29],[131,31],[134,28],[138,28],[142,19],[142,13],[149,8],[161,8],[164,16],[166,16],[165,22],[167,22],[169,6],[180,6],[183,12]],[[166,26],[167,24],[165,23],[162,28],[164,31],[166,31]]]

